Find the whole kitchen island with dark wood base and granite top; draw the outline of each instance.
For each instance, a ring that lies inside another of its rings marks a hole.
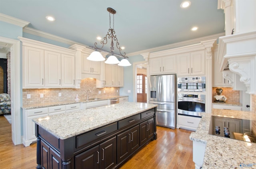
[[[62,169],[94,168],[88,167],[92,163],[110,168],[122,165],[146,142],[156,140],[155,114],[155,104],[123,102],[33,119],[38,138],[37,168],[52,164]],[[93,158],[88,159],[91,151]]]

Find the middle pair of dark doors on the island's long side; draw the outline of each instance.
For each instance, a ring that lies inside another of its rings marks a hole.
[[[139,147],[139,125],[117,135],[117,163],[124,161]]]

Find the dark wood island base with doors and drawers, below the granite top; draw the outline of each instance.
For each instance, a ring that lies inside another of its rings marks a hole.
[[[53,150],[57,160],[54,165],[59,169],[118,168],[146,142],[156,140],[155,118],[156,108],[152,108],[64,140],[37,125],[37,146],[41,149],[37,151],[38,166],[43,163],[44,169],[51,169],[51,156],[46,152]],[[46,150],[42,150],[42,146]],[[49,158],[48,162],[42,160],[45,157]],[[58,161],[62,164],[58,165]]]

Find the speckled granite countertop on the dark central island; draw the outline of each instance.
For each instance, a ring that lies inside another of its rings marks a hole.
[[[156,107],[156,104],[124,102],[65,114],[44,116],[32,121],[62,140],[122,120]]]

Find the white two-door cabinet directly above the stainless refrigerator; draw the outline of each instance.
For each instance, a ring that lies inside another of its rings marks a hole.
[[[149,61],[150,75],[176,73],[176,55],[156,57]]]

